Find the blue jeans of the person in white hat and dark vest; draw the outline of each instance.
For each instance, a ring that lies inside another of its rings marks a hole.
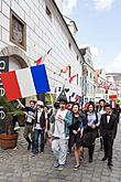
[[[38,152],[40,135],[41,135],[41,152],[44,152],[44,138],[45,138],[44,133],[45,133],[45,131],[41,130],[41,129],[35,129],[35,131],[34,131],[34,149],[36,152]]]

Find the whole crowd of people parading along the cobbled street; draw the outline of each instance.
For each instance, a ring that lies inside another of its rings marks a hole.
[[[120,113],[118,108],[113,111],[110,104],[100,99],[98,104],[89,101],[84,109],[78,103],[68,104],[64,93],[51,109],[44,106],[42,100],[31,100],[28,107],[18,101],[25,110],[24,138],[28,141],[28,150],[32,150],[34,154],[44,152],[47,136],[55,159],[54,168],[63,170],[67,153],[74,151],[74,170],[78,170],[85,148],[88,148],[88,161],[92,162],[95,141],[100,138],[102,161],[108,160],[108,167],[111,169]]]

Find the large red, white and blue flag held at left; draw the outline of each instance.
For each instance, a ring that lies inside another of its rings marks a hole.
[[[45,65],[0,74],[8,101],[50,92]]]

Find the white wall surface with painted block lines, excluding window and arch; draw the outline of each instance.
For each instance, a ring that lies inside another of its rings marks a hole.
[[[66,74],[62,76],[54,74],[70,65],[72,75],[78,73],[81,77],[81,56],[57,10],[52,4],[47,7],[52,12],[52,19],[46,14],[45,0],[0,0],[0,50],[14,45],[10,42],[10,9],[12,9],[26,23],[26,52],[24,52],[32,65],[35,60],[53,49],[45,61],[52,92],[56,86],[66,84],[70,87],[70,92],[81,95],[81,88],[76,81],[69,85],[65,81],[68,78]],[[72,49],[68,46],[69,42]],[[19,68],[14,62],[11,62],[10,69],[12,66]]]

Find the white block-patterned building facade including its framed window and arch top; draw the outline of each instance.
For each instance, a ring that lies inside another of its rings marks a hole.
[[[81,95],[82,57],[55,1],[0,1],[0,56],[9,56],[9,71],[34,65],[51,49],[44,60],[51,93],[65,85],[68,96],[73,92]],[[59,74],[66,66],[69,71]]]

